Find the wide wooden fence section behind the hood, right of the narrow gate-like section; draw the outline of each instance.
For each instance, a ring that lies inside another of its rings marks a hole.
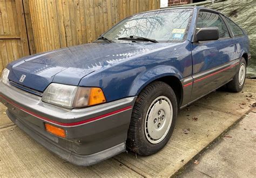
[[[134,13],[160,8],[159,0],[28,1],[36,52],[91,43]]]

